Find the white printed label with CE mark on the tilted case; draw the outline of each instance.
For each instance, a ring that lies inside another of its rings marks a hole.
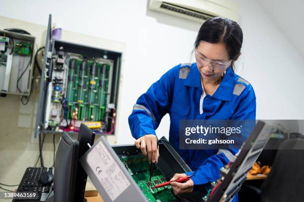
[[[88,153],[87,163],[112,201],[130,186],[131,183],[102,141]]]

